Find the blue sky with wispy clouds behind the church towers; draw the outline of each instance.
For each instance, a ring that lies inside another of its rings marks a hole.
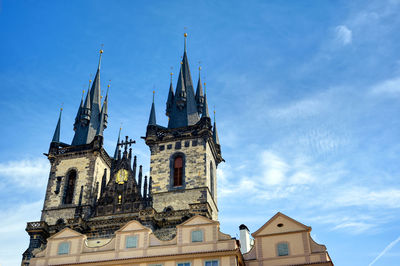
[[[222,231],[254,232],[281,211],[312,226],[335,265],[398,265],[399,13],[395,0],[0,2],[1,265],[18,265],[28,246],[48,178],[42,154],[61,105],[71,142],[100,45],[105,147],[113,152],[122,123],[148,171],[140,136],[153,89],[167,124],[185,31],[226,160]]]

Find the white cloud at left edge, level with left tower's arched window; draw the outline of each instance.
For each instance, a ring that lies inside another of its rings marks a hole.
[[[6,182],[25,188],[44,187],[49,170],[49,162],[41,158],[0,163],[0,176]]]

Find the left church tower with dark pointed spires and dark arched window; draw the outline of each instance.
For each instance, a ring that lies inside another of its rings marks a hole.
[[[108,92],[101,106],[100,63],[85,101],[81,100],[74,123],[72,144],[60,142],[58,121],[49,153],[51,170],[41,220],[64,224],[76,216],[89,217],[100,194],[104,175],[109,179],[111,159],[103,149],[107,127]],[[89,85],[90,86],[90,85]]]

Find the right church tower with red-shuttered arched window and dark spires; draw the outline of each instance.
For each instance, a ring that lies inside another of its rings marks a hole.
[[[151,151],[153,207],[157,212],[189,210],[218,219],[216,169],[223,161],[216,124],[211,125],[207,95],[199,75],[196,93],[185,44],[174,92],[166,104],[168,127],[157,125],[154,100],[146,132]]]

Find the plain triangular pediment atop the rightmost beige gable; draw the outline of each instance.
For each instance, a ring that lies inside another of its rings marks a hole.
[[[271,234],[282,234],[298,231],[311,231],[311,227],[306,226],[283,213],[278,212],[260,229],[252,234],[253,237]]]

